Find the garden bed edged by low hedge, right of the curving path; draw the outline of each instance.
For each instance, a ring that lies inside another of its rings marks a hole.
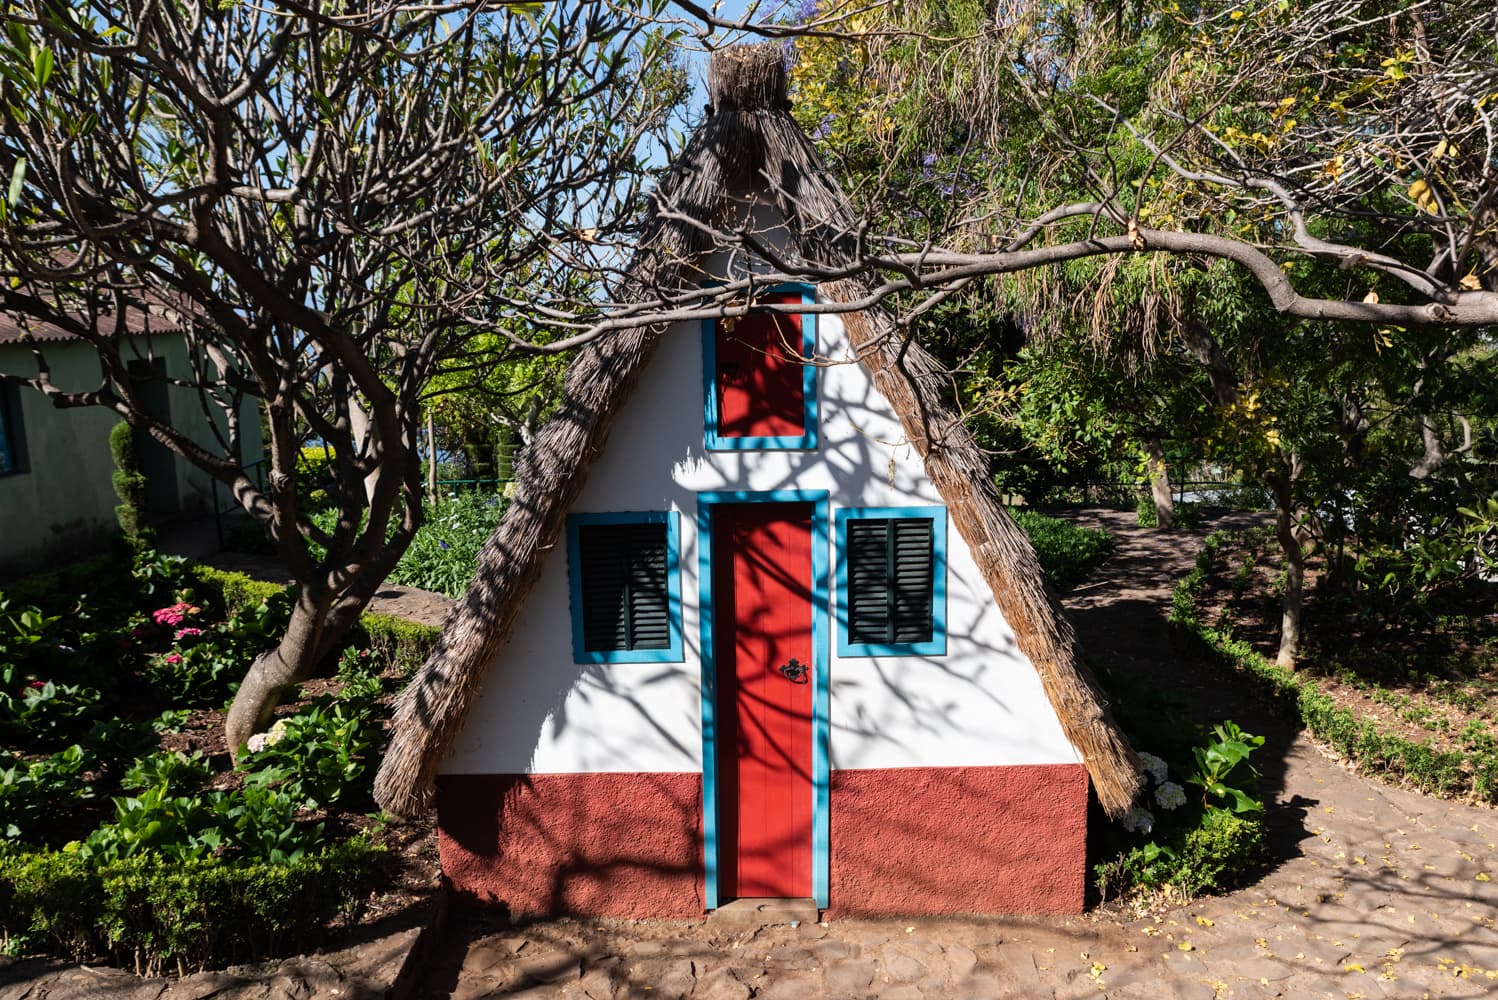
[[[1498,593],[1372,608],[1308,573],[1296,671],[1272,662],[1279,570],[1266,533],[1209,539],[1174,617],[1264,683],[1359,769],[1423,792],[1498,804]]]

